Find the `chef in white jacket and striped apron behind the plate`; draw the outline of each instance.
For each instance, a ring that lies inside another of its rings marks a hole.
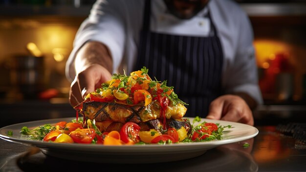
[[[254,125],[262,103],[253,30],[231,0],[97,0],[66,63],[72,106],[123,70],[149,75],[188,103],[188,117]]]

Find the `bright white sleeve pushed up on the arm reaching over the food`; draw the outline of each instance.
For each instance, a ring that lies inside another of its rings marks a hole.
[[[74,39],[73,49],[66,62],[66,77],[73,79],[76,75],[74,59],[77,51],[88,41],[105,44],[113,60],[114,71],[118,68],[124,51],[125,26],[121,0],[97,0],[89,17],[82,23]],[[113,72],[114,72],[113,71]]]

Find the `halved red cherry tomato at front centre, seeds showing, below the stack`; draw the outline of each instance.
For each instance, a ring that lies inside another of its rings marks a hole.
[[[140,141],[139,138],[140,126],[137,123],[125,123],[120,129],[121,140],[126,144],[135,144]]]

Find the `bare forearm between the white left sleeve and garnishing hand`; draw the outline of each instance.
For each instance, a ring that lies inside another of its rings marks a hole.
[[[75,71],[79,74],[92,64],[99,64],[112,73],[112,58],[108,48],[96,41],[87,42],[76,54]]]

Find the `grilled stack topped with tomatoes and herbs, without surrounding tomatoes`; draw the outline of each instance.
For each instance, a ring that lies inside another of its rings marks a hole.
[[[119,131],[124,123],[133,122],[141,131],[185,127],[190,123],[183,120],[187,108],[167,86],[167,81],[152,80],[146,67],[131,75],[114,74],[101,88],[87,95],[85,101],[74,108],[88,119],[95,120],[100,131]]]

